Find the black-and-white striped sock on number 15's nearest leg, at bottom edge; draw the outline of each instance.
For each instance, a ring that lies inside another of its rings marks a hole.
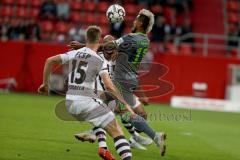
[[[122,160],[132,159],[130,145],[124,136],[114,138],[114,146]]]

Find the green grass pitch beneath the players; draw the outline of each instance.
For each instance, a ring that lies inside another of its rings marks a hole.
[[[0,159],[100,159],[97,144],[82,143],[73,137],[90,129],[88,124],[61,121],[55,116],[55,104],[61,99],[63,97],[1,94]],[[156,104],[146,110],[150,125],[168,134],[167,154],[160,158],[152,144],[147,151],[133,150],[134,160],[240,160],[240,114],[190,112]],[[110,138],[108,144],[116,155]]]

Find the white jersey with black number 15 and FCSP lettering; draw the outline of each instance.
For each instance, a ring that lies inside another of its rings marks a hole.
[[[63,64],[69,63],[67,99],[94,97],[97,76],[108,71],[105,61],[87,47],[60,56]]]

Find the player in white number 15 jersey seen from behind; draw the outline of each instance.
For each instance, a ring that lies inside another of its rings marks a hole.
[[[42,94],[48,92],[48,79],[54,64],[69,63],[70,72],[66,94],[68,112],[77,120],[87,121],[95,127],[104,128],[114,139],[115,148],[121,159],[131,160],[132,153],[129,143],[125,139],[114,113],[94,94],[96,76],[100,75],[106,89],[127,106],[132,116],[135,116],[131,107],[110,80],[103,59],[96,53],[100,45],[100,37],[101,29],[97,26],[90,26],[86,31],[86,47],[48,58],[44,67],[43,84],[38,91]],[[100,156],[105,159],[108,150],[102,148],[102,152],[103,154]]]

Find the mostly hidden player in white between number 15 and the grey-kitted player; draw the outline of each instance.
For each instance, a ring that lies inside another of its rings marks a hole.
[[[114,40],[114,37],[107,35],[103,38],[103,43],[107,43],[112,40]],[[112,51],[111,54],[99,52],[98,54],[106,62],[110,78],[113,78],[113,72],[114,72],[114,68],[115,68],[114,66],[115,66],[117,52]],[[96,86],[95,86],[96,93],[99,96],[103,95],[105,92],[105,86],[104,86],[104,83],[102,82],[102,79],[100,76],[97,77],[95,84],[96,84]],[[142,107],[142,104],[141,104],[139,98],[135,95],[134,95],[134,98],[136,99],[136,103],[133,106],[131,106],[133,111],[139,115],[145,115],[144,117],[146,118],[147,114],[146,114],[144,108]],[[107,100],[108,102],[106,102],[106,104],[108,104],[109,108],[114,110],[116,107],[116,101],[112,100],[112,98],[109,95],[108,95],[107,99],[108,99]],[[123,123],[123,125],[128,130],[128,132],[132,135],[129,140],[130,146],[135,149],[147,150],[144,146],[150,145],[152,143],[152,140],[141,136],[131,124]],[[107,148],[105,131],[101,128],[95,127],[95,128],[93,128],[93,130],[75,134],[75,137],[81,141],[95,142],[96,140],[98,140],[99,148],[101,148],[101,147]],[[144,145],[144,146],[142,146],[142,145]]]

